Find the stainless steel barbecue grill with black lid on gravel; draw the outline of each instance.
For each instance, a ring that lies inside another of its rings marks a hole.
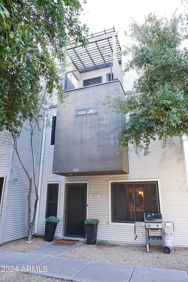
[[[146,248],[147,253],[150,252],[150,244],[162,245],[165,254],[170,253],[170,248],[165,245],[164,226],[174,226],[172,222],[163,222],[162,214],[160,213],[145,213],[145,232],[146,232]],[[153,234],[151,235],[153,231]],[[160,231],[156,232],[156,231]],[[155,235],[155,234],[157,235]]]

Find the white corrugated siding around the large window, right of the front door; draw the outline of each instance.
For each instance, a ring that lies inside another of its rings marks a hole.
[[[130,174],[125,176],[85,177],[89,180],[89,217],[98,217],[99,239],[116,243],[145,244],[145,228],[134,224],[109,224],[109,187],[108,180],[159,179],[161,191],[161,210],[164,221],[173,221],[175,231],[166,228],[174,236],[175,246],[188,246],[188,191],[182,143],[179,137],[167,140],[162,149],[161,141],[151,142],[150,155],[130,152]],[[73,179],[73,178],[72,178]],[[84,180],[83,177],[79,178]],[[68,179],[70,181],[70,179]],[[76,180],[74,178],[74,180]],[[78,179],[77,179],[78,180]],[[90,199],[90,194],[100,194],[99,199]]]

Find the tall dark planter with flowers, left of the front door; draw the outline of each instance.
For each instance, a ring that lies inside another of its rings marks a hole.
[[[45,232],[44,232],[44,241],[51,242],[56,231],[57,223],[59,219],[55,216],[49,216],[46,218]]]

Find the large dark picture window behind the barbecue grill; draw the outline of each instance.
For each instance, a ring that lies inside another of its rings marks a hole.
[[[144,213],[160,212],[157,182],[112,183],[112,221],[144,221]]]

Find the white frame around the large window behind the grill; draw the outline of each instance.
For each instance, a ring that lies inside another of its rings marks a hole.
[[[123,226],[132,226],[137,224],[144,224],[144,221],[112,221],[112,183],[134,183],[134,184],[143,184],[143,183],[153,183],[155,182],[158,187],[157,193],[157,201],[158,201],[158,210],[162,213],[162,197],[161,197],[161,187],[160,187],[160,179],[120,179],[120,180],[109,180],[109,225],[123,225]]]

